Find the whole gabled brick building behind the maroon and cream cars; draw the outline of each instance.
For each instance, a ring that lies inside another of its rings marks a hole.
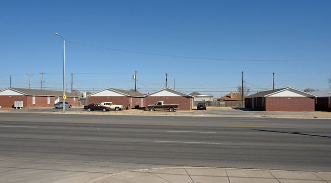
[[[123,89],[105,88],[87,97],[89,104],[113,102],[117,105],[123,105],[125,109],[145,107],[145,97],[143,94]]]

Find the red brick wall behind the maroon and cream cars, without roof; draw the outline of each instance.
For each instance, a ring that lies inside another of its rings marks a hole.
[[[142,105],[141,105],[141,99]],[[133,109],[136,105],[139,105],[139,107],[145,106],[145,98],[136,98],[132,97],[132,105],[131,105],[131,97],[89,97],[88,98],[89,104],[93,103],[101,103],[101,102],[113,102],[117,105],[123,105],[124,108]]]

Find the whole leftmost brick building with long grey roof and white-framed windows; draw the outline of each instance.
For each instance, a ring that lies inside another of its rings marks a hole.
[[[78,97],[65,93],[66,102],[71,106],[78,105]],[[15,101],[23,101],[23,108],[54,107],[57,102],[63,101],[62,91],[45,89],[6,88],[0,91],[0,106],[2,108],[14,107]]]

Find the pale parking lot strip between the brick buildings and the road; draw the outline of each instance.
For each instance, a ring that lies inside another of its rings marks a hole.
[[[100,114],[100,115],[167,115],[167,116],[217,116],[217,117],[283,117],[283,118],[331,118],[331,112],[285,112],[285,111],[256,111],[245,108],[208,107],[207,110],[190,111],[148,111],[144,109],[131,109],[121,111],[87,111],[84,106],[66,108],[66,114]],[[38,108],[38,109],[0,109],[0,112],[20,113],[62,113],[62,108]]]

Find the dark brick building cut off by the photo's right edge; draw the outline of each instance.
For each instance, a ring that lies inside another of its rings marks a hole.
[[[310,92],[315,95],[315,110],[331,112],[331,91],[314,91]]]

